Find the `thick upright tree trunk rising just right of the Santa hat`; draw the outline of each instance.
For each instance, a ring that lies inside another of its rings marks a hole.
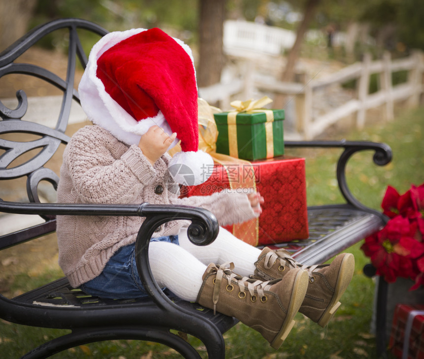
[[[224,65],[222,38],[224,34],[226,0],[199,0],[199,87],[210,86],[221,80]]]

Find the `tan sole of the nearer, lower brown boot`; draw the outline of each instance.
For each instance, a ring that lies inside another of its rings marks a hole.
[[[291,328],[294,326],[295,321],[293,318],[303,303],[306,291],[308,290],[308,283],[308,273],[304,270],[300,270],[296,275],[296,280],[294,281],[293,292],[291,294],[290,303],[287,308],[287,315],[279,333],[275,336],[271,343],[271,347],[276,350],[281,347]]]

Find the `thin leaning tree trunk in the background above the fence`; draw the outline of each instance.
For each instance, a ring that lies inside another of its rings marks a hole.
[[[287,64],[285,65],[284,72],[282,74],[282,81],[293,81],[294,80],[294,66],[299,58],[300,48],[303,41],[303,36],[309,28],[309,25],[314,18],[317,5],[320,0],[308,0],[305,7],[305,14],[303,20],[297,28],[296,40],[294,41],[293,47],[287,56]]]

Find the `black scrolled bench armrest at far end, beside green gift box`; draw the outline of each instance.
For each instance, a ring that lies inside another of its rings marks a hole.
[[[285,147],[321,147],[321,148],[343,148],[343,152],[340,155],[337,162],[337,183],[343,197],[347,203],[352,204],[354,207],[368,211],[375,212],[373,209],[362,204],[357,198],[352,195],[349,186],[346,181],[346,165],[349,159],[359,151],[372,150],[374,151],[373,161],[379,166],[388,164],[392,159],[392,151],[389,145],[378,142],[368,141],[286,141],[284,142]]]

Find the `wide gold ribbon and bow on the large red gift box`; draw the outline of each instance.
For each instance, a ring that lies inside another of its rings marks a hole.
[[[231,189],[253,189],[256,192],[255,173],[249,161],[216,153],[218,130],[213,113],[217,112],[221,110],[211,106],[203,98],[198,99],[199,150],[208,153],[214,162],[224,167]],[[169,153],[172,156],[180,150],[179,146],[175,146]],[[233,234],[244,242],[257,246],[258,228],[259,219],[252,218],[244,223],[234,224]]]

